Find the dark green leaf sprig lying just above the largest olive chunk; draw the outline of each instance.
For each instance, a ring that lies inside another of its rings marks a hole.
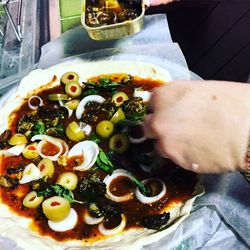
[[[40,196],[48,197],[52,195],[58,195],[60,197],[63,197],[64,199],[68,200],[70,203],[76,202],[76,203],[84,204],[83,201],[75,200],[73,192],[60,184],[51,185],[47,187],[45,190],[37,192],[38,197]]]

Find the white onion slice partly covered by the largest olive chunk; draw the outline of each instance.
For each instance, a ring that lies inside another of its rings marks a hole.
[[[69,215],[64,220],[58,222],[48,220],[48,225],[53,231],[65,232],[73,229],[76,226],[77,219],[78,217],[76,211],[71,208]]]

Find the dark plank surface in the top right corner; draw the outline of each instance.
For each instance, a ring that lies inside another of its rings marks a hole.
[[[189,68],[204,79],[247,81],[250,73],[250,0],[181,0],[150,8],[166,13],[172,39]]]

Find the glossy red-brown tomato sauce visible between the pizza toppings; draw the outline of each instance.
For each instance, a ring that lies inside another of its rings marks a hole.
[[[112,77],[113,81],[119,82],[122,78],[122,74],[116,74],[116,75],[109,75],[109,77]],[[98,80],[100,77],[92,78],[91,82]],[[160,81],[153,81],[150,79],[140,79],[135,77],[132,84],[128,84],[126,87],[118,87],[118,91],[125,92],[129,97],[132,96],[132,93],[134,91],[135,87],[142,86],[145,90],[150,90],[153,87],[160,86],[162,82]],[[50,89],[43,90],[36,95],[38,95],[40,98],[42,98],[44,102],[45,107],[52,108],[56,102],[49,101],[47,96],[52,93],[64,93],[64,90],[62,86],[56,86]],[[102,94],[101,94],[102,95]],[[105,94],[102,95],[103,97]],[[27,101],[23,103],[23,105],[18,108],[15,112],[13,112],[11,116],[11,124],[10,129],[12,133],[16,133],[17,131],[17,123],[20,120],[20,118],[30,111]],[[91,125],[96,126],[96,124],[106,119],[105,114],[101,113],[99,114],[98,119],[93,122]],[[70,118],[63,120],[63,126],[67,127],[67,125],[72,122],[73,120],[76,120],[75,115],[73,114]],[[136,135],[135,135],[136,137]],[[69,148],[71,148],[76,143],[73,141],[70,141],[66,136],[62,138],[65,140],[65,142],[69,145]],[[104,151],[108,148],[107,142],[102,142],[99,145]],[[142,143],[141,145],[131,145],[130,149],[128,150],[127,154],[127,160],[130,158],[131,152],[134,154],[136,152],[147,151],[149,150],[148,147],[152,148],[152,146],[148,146],[147,143]],[[45,148],[45,150],[48,150],[50,155],[53,155],[57,152],[57,148],[52,147],[51,145],[48,145],[48,147]],[[78,159],[77,159],[78,158]],[[15,156],[15,157],[6,157],[2,159],[2,167],[0,169],[0,175],[8,175],[8,169],[10,168],[17,168],[20,165],[26,166],[29,163],[34,163],[36,166],[38,162],[41,160],[34,159],[34,160],[27,160],[22,155],[21,156]],[[61,166],[56,161],[53,162],[55,166],[55,173],[51,178],[48,178],[47,185],[53,185],[55,184],[58,176],[64,172],[72,171],[73,167],[76,166],[76,160],[84,161],[83,158],[76,157],[76,159],[72,158],[68,162],[67,166]],[[178,166],[174,165],[169,160],[166,160],[163,164],[164,166],[159,170],[159,172],[156,172],[151,175],[147,175],[145,172],[143,172],[139,168],[135,168],[133,166],[132,162],[128,161],[128,169],[134,173],[135,176],[137,176],[140,180],[146,179],[146,178],[160,178],[163,180],[167,187],[167,193],[166,195],[158,202],[155,202],[153,204],[142,204],[139,202],[135,195],[134,198],[126,201],[121,202],[119,205],[121,206],[122,213],[125,214],[127,219],[126,229],[129,228],[139,228],[142,227],[141,220],[149,215],[159,214],[163,209],[171,206],[175,202],[185,202],[187,199],[193,196],[194,188],[197,183],[197,176],[193,173],[184,171],[180,169]],[[98,170],[99,174],[102,179],[105,178],[107,175],[104,171]],[[74,171],[78,175],[78,178],[83,178],[84,176],[87,176],[89,171],[86,172],[80,172],[80,171]],[[78,222],[74,229],[68,230],[66,232],[60,233],[60,232],[54,232],[48,227],[48,219],[45,217],[45,215],[42,212],[41,206],[39,206],[36,209],[30,209],[26,208],[22,205],[23,198],[27,193],[31,191],[30,189],[30,183],[18,185],[15,189],[8,189],[0,187],[1,191],[1,198],[3,203],[6,203],[15,213],[21,216],[25,216],[28,218],[32,218],[32,229],[38,231],[41,235],[47,235],[51,236],[52,238],[58,240],[58,241],[65,241],[65,240],[83,240],[86,242],[94,242],[99,239],[104,239],[105,236],[103,236],[98,231],[98,227],[96,225],[90,226],[83,222],[82,220],[82,214],[83,210],[87,207],[86,205],[77,204],[77,203],[71,203],[71,207],[74,208],[78,214]],[[133,184],[129,179],[119,177],[112,181],[111,183],[111,191],[117,195],[117,196],[123,196],[125,194],[130,193],[132,190],[135,189],[135,184]],[[75,199],[80,199],[81,195],[78,193],[77,189],[74,190],[74,196]],[[112,228],[117,226],[119,224],[119,221],[117,219],[110,219],[104,222],[107,228]]]

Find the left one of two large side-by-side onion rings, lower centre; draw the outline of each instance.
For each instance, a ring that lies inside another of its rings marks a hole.
[[[103,182],[106,184],[106,188],[107,188],[106,196],[112,201],[123,202],[123,201],[131,200],[134,197],[133,192],[130,192],[130,193],[123,195],[123,196],[116,196],[110,192],[110,184],[112,183],[112,181],[114,179],[116,179],[118,177],[122,177],[122,176],[131,179],[131,175],[127,170],[119,168],[119,169],[116,169],[111,175],[107,175],[103,180]]]

